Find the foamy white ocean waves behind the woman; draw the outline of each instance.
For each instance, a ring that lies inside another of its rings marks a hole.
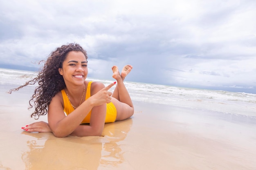
[[[36,72],[10,70],[0,68],[0,91],[9,91],[36,76]],[[88,80],[102,82],[108,85],[109,79]],[[166,104],[171,106],[217,111],[223,114],[243,115],[256,119],[256,94],[234,93],[228,91],[211,91],[195,88],[182,88],[159,84],[145,84],[140,82],[125,82],[133,102]],[[25,87],[13,93],[33,94],[36,85]],[[113,88],[110,89],[112,91]]]

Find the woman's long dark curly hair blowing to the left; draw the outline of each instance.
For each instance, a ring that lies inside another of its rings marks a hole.
[[[39,62],[39,64],[44,63],[44,66],[38,72],[37,77],[9,91],[9,93],[11,93],[12,91],[18,91],[24,86],[38,83],[34,95],[32,95],[29,100],[29,108],[33,108],[33,102],[35,107],[35,111],[31,114],[31,117],[38,119],[41,115],[46,115],[47,107],[52,101],[52,97],[66,87],[64,79],[62,75],[59,74],[58,69],[62,68],[63,61],[70,51],[81,51],[85,55],[86,60],[88,59],[86,51],[79,44],[70,43],[58,47],[55,51],[50,53],[46,61],[41,60]]]

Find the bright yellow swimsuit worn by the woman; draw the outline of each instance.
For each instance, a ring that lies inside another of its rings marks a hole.
[[[92,82],[88,83],[87,90],[86,90],[86,95],[85,95],[85,100],[87,100],[89,97],[91,97],[91,84],[92,84]],[[69,99],[68,99],[67,94],[64,91],[64,89],[61,91],[61,93],[62,93],[63,102],[64,102],[64,109],[63,110],[68,115],[68,114],[72,113],[72,111],[74,111],[74,108],[70,104]],[[92,110],[83,119],[81,124],[90,123],[91,113],[92,113]],[[116,118],[117,118],[117,109],[116,109],[115,105],[112,102],[107,103],[107,113],[106,113],[105,123],[114,122],[116,120]]]

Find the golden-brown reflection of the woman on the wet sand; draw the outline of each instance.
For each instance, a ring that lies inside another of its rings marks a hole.
[[[124,161],[119,141],[123,141],[132,125],[132,119],[109,123],[104,137],[54,137],[52,133],[27,133],[35,137],[27,141],[29,151],[22,154],[27,170],[97,170],[99,166],[117,166]]]

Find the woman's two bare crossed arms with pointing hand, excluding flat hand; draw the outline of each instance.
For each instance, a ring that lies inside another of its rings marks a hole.
[[[66,137],[70,134],[76,136],[101,135],[106,117],[106,103],[111,102],[110,96],[112,93],[108,90],[113,85],[115,83],[103,88],[103,84],[95,84],[92,96],[67,116],[63,112],[61,94],[54,96],[48,107],[49,127],[54,136]],[[97,93],[95,93],[96,91]],[[92,110],[90,126],[79,126],[90,110]]]

